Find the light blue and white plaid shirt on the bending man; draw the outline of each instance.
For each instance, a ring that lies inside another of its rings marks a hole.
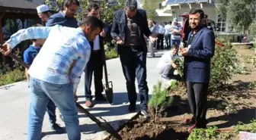
[[[27,39],[46,39],[30,66],[30,76],[53,84],[71,82],[75,91],[91,54],[91,46],[83,31],[60,25],[30,27],[14,33],[8,44],[14,48]],[[75,61],[68,76],[69,67]]]

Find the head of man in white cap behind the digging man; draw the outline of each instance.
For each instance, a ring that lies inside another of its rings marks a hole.
[[[40,5],[37,6],[37,14],[43,22],[47,22],[48,18],[52,15],[52,12],[48,5]]]

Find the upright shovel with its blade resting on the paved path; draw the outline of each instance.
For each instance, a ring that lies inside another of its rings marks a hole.
[[[105,90],[105,93],[106,93],[106,96],[107,96],[107,101],[108,101],[109,104],[113,104],[113,83],[112,83],[112,81],[108,82],[106,59],[105,59],[105,64],[104,64],[104,73],[105,73],[105,80],[106,80],[104,90]]]

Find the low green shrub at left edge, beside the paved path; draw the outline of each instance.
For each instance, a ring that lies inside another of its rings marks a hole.
[[[0,74],[0,86],[8,85],[13,82],[18,82],[26,78],[23,70],[14,69],[8,73]]]

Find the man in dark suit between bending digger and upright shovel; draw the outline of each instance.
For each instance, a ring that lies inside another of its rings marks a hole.
[[[98,17],[100,19],[100,5],[97,3],[91,2],[88,5],[88,16]],[[105,54],[104,54],[104,37],[106,36],[106,30],[102,30],[102,32],[96,36],[94,42],[90,42],[91,44],[91,58],[88,61],[88,64],[85,68],[85,106],[93,107],[92,104],[92,96],[91,96],[91,79],[92,74],[94,74],[94,87],[95,87],[95,101],[107,101],[102,95],[103,89],[103,66],[105,63]]]

